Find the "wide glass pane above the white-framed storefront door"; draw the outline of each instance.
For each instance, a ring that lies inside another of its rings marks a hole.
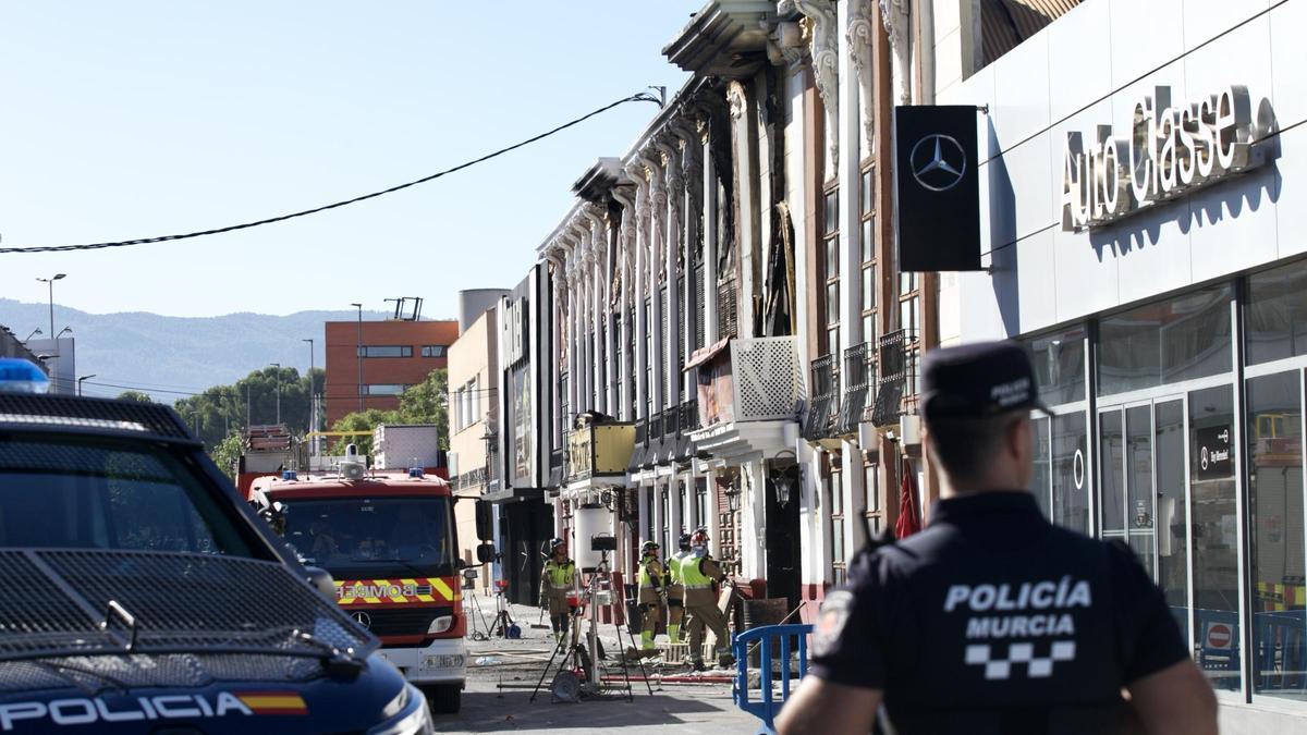
[[[1103,395],[1230,371],[1230,284],[1106,316],[1099,323]]]

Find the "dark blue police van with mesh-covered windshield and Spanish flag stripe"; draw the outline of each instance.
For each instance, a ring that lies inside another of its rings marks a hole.
[[[0,360],[0,732],[431,732],[173,409]]]

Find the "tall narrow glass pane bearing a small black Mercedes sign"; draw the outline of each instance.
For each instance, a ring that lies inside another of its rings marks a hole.
[[[1234,396],[1230,386],[1189,394],[1189,496],[1193,502],[1192,640],[1217,689],[1242,687],[1239,522]]]

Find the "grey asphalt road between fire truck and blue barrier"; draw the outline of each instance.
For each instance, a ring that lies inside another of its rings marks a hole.
[[[493,615],[493,599],[481,598],[481,606]],[[588,732],[623,734],[686,732],[725,735],[755,732],[758,719],[736,709],[731,701],[729,684],[659,684],[654,693],[643,681],[633,681],[633,698],[605,696],[583,698],[578,704],[552,704],[549,683],[557,671],[557,660],[550,667],[536,701],[531,702],[532,688],[540,680],[553,650],[549,630],[533,629],[540,611],[512,607],[511,615],[523,629],[523,638],[510,641],[490,638],[468,641],[468,687],[463,692],[463,709],[452,715],[437,715],[438,732]],[[625,634],[623,634],[625,638]],[[610,660],[620,647],[612,625],[600,630],[600,640]],[[629,640],[623,640],[629,645]],[[660,666],[650,662],[650,674],[685,674],[682,666]],[[610,663],[610,674],[621,676],[621,668]],[[631,668],[631,675],[638,674]],[[728,672],[718,672],[728,674]],[[503,688],[501,688],[503,685]]]

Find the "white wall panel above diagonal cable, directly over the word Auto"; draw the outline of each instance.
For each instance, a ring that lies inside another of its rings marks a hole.
[[[1060,120],[1112,90],[1107,0],[1090,0],[1042,33],[1048,37],[1050,112]],[[1000,59],[1006,65],[1006,58]]]

